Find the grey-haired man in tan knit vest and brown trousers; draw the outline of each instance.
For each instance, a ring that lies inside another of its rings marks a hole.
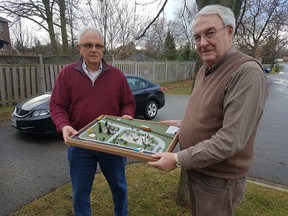
[[[204,7],[193,22],[200,68],[180,126],[180,151],[153,155],[150,165],[186,170],[194,216],[232,216],[241,202],[253,144],[268,96],[261,65],[233,47],[235,18],[220,5]]]

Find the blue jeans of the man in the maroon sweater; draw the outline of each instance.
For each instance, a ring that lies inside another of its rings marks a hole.
[[[128,215],[125,157],[69,146],[68,160],[76,216],[91,215],[90,193],[97,162],[111,189],[115,216]]]

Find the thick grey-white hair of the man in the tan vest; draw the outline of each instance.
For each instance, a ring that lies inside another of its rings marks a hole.
[[[195,16],[195,19],[192,23],[192,27],[194,29],[194,22],[198,16],[201,15],[209,15],[209,14],[216,14],[222,20],[224,26],[232,26],[233,27],[233,34],[235,31],[236,20],[233,11],[225,6],[222,5],[207,5],[203,7]]]

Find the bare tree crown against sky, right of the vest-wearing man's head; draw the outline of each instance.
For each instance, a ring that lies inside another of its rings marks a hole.
[[[267,45],[272,38],[276,40],[276,44],[281,41],[287,42],[287,37],[283,33],[287,30],[288,2],[286,0],[247,0],[243,10],[245,14],[239,23],[236,37],[236,43],[243,52],[257,57],[262,55],[261,47]],[[275,49],[276,44],[274,44]]]

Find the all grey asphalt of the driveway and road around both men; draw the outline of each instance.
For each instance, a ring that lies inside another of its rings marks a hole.
[[[288,186],[288,65],[268,76],[270,93],[255,143],[250,177]],[[166,95],[155,121],[181,119],[188,96]],[[131,161],[131,160],[129,160]],[[28,136],[0,128],[0,216],[70,181],[61,138]]]

